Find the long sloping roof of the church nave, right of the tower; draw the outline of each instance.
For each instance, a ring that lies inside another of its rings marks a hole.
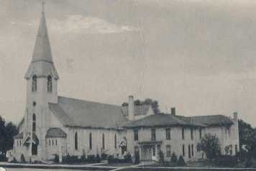
[[[59,96],[49,107],[65,126],[117,129],[127,121],[122,107],[111,104]]]

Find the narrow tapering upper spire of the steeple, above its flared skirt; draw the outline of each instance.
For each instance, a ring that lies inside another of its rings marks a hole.
[[[32,62],[38,60],[45,60],[47,62],[52,63],[52,52],[50,48],[50,41],[48,38],[47,25],[45,21],[45,1],[42,1],[40,26],[37,32]]]

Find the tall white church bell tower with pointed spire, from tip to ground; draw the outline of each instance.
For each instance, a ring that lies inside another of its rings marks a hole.
[[[45,157],[45,134],[50,122],[48,103],[58,103],[59,79],[52,60],[44,7],[45,3],[42,2],[40,25],[35,40],[34,52],[24,76],[27,80],[25,131],[27,136],[33,134],[39,140],[38,144],[30,145],[31,151],[29,154],[33,158],[40,157],[37,158],[40,160]]]

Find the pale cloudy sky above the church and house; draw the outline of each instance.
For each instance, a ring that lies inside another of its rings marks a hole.
[[[19,123],[41,1],[0,0],[0,116]],[[153,98],[183,116],[256,126],[255,0],[46,0],[58,94]]]

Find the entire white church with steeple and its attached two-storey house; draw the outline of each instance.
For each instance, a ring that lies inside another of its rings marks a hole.
[[[186,161],[201,159],[196,145],[206,133],[216,134],[221,152],[230,147],[238,152],[237,113],[227,116],[185,117],[154,114],[151,106],[128,106],[83,101],[58,96],[59,75],[52,60],[45,12],[35,41],[32,61],[25,75],[27,104],[19,134],[14,137],[14,157],[25,160],[51,160],[55,154],[114,154],[128,152],[140,160],[158,160],[160,150],[169,160],[175,152]]]

